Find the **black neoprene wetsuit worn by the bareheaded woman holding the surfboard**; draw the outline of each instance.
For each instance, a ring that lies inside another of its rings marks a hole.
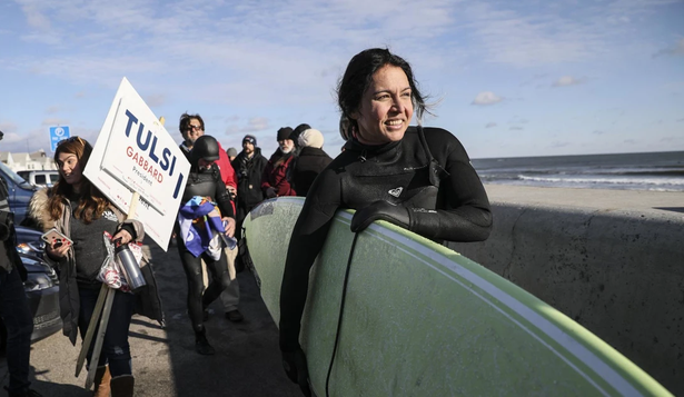
[[[280,349],[299,349],[309,269],[339,208],[361,209],[377,200],[408,208],[408,229],[433,240],[482,241],[492,214],[466,150],[450,132],[409,127],[400,141],[345,151],[318,176],[290,239],[280,291]],[[424,138],[423,138],[424,137]]]

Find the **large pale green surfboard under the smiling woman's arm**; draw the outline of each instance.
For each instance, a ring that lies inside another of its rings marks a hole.
[[[303,198],[245,221],[276,324]],[[309,284],[301,329],[313,391],[325,396],[353,211],[338,211]],[[480,265],[388,222],[357,239],[330,396],[671,396],[588,330]]]

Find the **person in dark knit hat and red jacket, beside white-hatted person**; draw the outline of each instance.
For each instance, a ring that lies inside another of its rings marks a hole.
[[[293,129],[282,127],[278,130],[278,149],[270,156],[261,175],[261,190],[266,198],[278,196],[297,196],[287,180],[287,169],[295,158],[295,141],[290,138]]]

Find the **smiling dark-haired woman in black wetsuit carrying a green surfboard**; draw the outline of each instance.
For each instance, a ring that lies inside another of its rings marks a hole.
[[[426,110],[410,66],[386,49],[356,54],[338,86],[345,150],[318,176],[297,219],[280,291],[280,350],[287,375],[308,393],[299,346],[309,269],[339,208],[351,230],[383,219],[433,240],[482,241],[492,214],[465,149],[450,132],[419,126]],[[408,127],[417,112],[418,127]]]

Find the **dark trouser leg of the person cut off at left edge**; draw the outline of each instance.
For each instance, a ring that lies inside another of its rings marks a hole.
[[[0,241],[1,244],[2,241]],[[7,366],[10,373],[10,394],[28,390],[29,356],[33,315],[27,301],[19,271],[0,269],[0,317],[7,327]]]

